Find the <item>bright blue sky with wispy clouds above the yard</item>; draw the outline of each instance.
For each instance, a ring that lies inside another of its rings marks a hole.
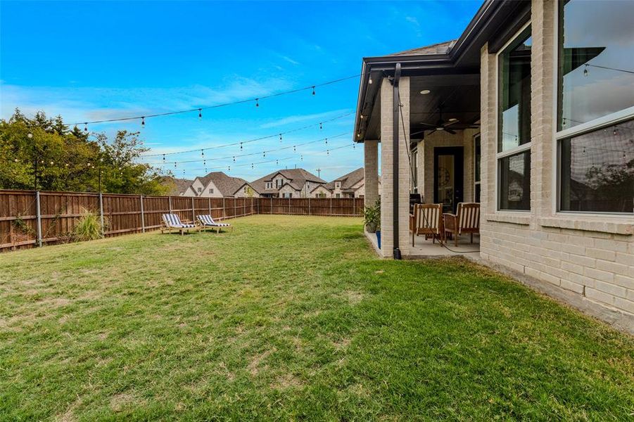
[[[364,56],[454,39],[481,1],[203,2],[1,1],[0,113],[15,107],[66,122],[213,106],[357,75]],[[276,134],[355,110],[359,79],[254,103],[146,121],[152,153],[205,148]],[[140,122],[94,124],[94,132]],[[326,180],[362,166],[353,115],[288,136],[205,152],[209,171],[256,179],[277,168],[322,169]],[[325,143],[211,160],[345,134]],[[303,155],[303,160],[300,160]],[[289,158],[255,165],[251,162]],[[204,174],[201,153],[168,156],[177,177]],[[146,158],[161,162],[161,158]],[[238,167],[236,165],[246,165]],[[184,170],[184,172],[183,172]]]

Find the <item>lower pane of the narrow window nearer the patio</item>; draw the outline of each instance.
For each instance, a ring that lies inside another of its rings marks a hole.
[[[498,160],[500,210],[531,209],[531,151]]]

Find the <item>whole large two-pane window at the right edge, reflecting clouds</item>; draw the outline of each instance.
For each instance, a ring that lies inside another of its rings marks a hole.
[[[632,1],[559,4],[557,210],[634,213]]]

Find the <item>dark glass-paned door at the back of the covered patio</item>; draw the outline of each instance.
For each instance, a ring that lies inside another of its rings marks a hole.
[[[443,204],[443,212],[455,212],[462,202],[463,148],[433,148],[433,202]]]

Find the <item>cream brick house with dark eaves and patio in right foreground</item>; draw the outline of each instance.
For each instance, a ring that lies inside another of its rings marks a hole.
[[[417,254],[410,193],[479,202],[481,262],[634,332],[633,17],[487,0],[455,41],[364,58],[354,139],[367,204],[381,163],[381,255]]]

